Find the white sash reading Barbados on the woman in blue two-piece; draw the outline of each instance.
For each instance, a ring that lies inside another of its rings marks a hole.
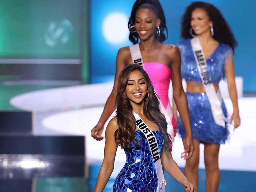
[[[216,93],[214,85],[211,82],[211,78],[208,76],[207,63],[204,57],[203,49],[200,44],[199,38],[198,37],[192,38],[191,45],[192,45],[193,53],[195,56],[197,69],[199,71],[202,83],[204,85],[204,89],[207,93],[207,97],[209,98],[209,101],[210,101],[211,111],[214,117],[214,121],[217,125],[225,128],[226,117],[224,116],[222,107],[221,107],[221,103],[222,103],[221,92],[218,90]]]

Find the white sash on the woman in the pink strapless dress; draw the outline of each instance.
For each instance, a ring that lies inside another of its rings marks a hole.
[[[135,44],[135,45],[130,46],[130,51],[131,51],[133,63],[134,64],[140,64],[140,66],[143,69],[145,69],[144,64],[143,64],[142,55],[140,53],[139,44]],[[174,130],[173,130],[173,125],[172,125],[172,118],[173,118],[172,106],[170,105],[170,101],[169,101],[168,105],[167,105],[167,108],[165,109],[165,107],[163,106],[163,103],[160,101],[160,99],[159,99],[159,102],[160,102],[159,109],[161,110],[161,113],[163,113],[163,115],[166,118],[166,121],[167,121],[167,124],[168,124],[167,132],[170,134],[171,141],[173,143],[174,142]]]

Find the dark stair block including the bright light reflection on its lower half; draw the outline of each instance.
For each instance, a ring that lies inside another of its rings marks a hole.
[[[84,177],[84,136],[0,134],[0,179]]]

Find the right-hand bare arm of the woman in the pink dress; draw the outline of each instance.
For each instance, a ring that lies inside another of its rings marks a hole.
[[[171,53],[173,57],[173,62],[171,64],[172,69],[172,84],[173,84],[173,98],[176,103],[178,112],[181,117],[181,121],[184,125],[186,136],[183,141],[184,144],[184,153],[182,157],[185,157],[185,159],[192,157],[193,151],[195,149],[193,138],[192,138],[192,131],[191,131],[191,125],[190,125],[190,117],[189,117],[189,110],[188,110],[188,101],[187,96],[183,90],[182,82],[181,82],[181,72],[180,72],[180,66],[181,66],[181,57],[180,57],[180,51],[175,46]]]

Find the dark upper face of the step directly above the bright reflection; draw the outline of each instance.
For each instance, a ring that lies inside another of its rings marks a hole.
[[[84,155],[84,136],[0,134],[0,154]]]

